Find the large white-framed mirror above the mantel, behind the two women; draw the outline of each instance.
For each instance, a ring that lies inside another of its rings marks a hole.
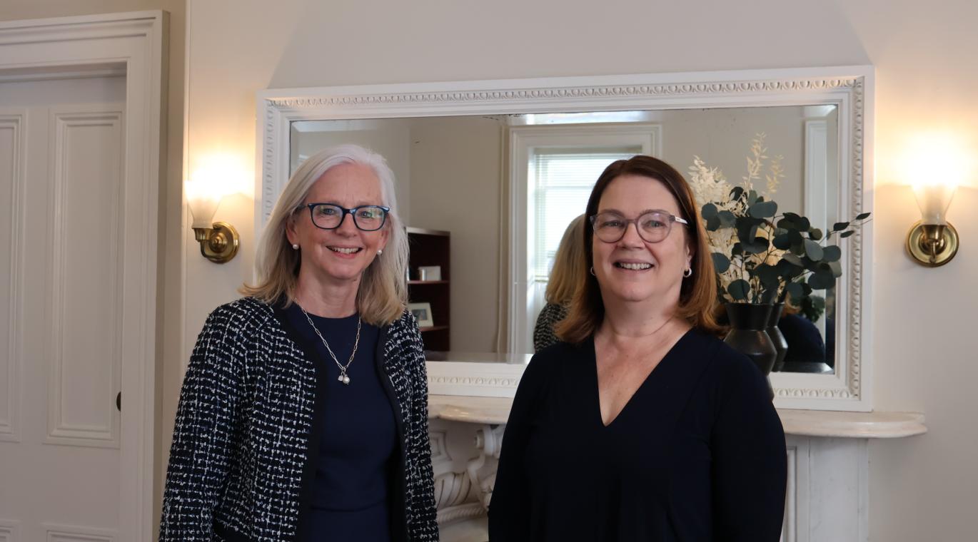
[[[720,177],[726,187],[749,182],[778,201],[779,211],[826,229],[867,210],[871,71],[838,71],[725,73],[740,77],[686,85],[630,76],[631,85],[597,78],[587,87],[551,79],[435,85],[440,92],[431,85],[267,91],[259,104],[257,218],[263,223],[291,171],[317,150],[356,143],[383,154],[398,179],[405,222],[451,234],[451,350],[458,354],[431,355],[454,362],[430,364],[433,387],[445,371],[453,383],[507,388],[514,379],[501,375],[519,369],[484,361],[519,365],[532,353],[563,229],[618,157],[641,152],[666,160],[700,199],[716,197],[709,183]],[[533,88],[520,88],[526,86]],[[783,368],[772,376],[780,406],[866,408],[867,233],[841,243],[845,274],[834,287],[780,319],[788,343]],[[500,395],[478,388],[474,395]]]

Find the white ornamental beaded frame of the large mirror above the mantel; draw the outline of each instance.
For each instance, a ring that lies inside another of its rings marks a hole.
[[[273,89],[261,91],[257,98],[256,235],[289,180],[290,125],[301,120],[835,105],[839,119],[837,216],[872,210],[872,66]],[[510,197],[515,197],[513,190]],[[512,251],[518,231],[510,231]],[[835,372],[772,373],[778,408],[872,409],[868,385],[871,249],[871,221],[842,243],[845,273],[836,286]],[[518,255],[511,253],[510,267],[518,261]],[[517,275],[508,271],[510,276]],[[511,300],[510,307],[515,306]],[[512,341],[510,347],[512,350]],[[512,396],[524,366],[429,362],[429,390],[445,395]]]

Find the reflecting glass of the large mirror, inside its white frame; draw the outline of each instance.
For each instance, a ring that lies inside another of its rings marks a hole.
[[[386,157],[404,222],[419,232],[413,243],[450,247],[450,262],[410,270],[411,301],[433,324],[425,342],[500,353],[486,358],[533,352],[560,239],[616,159],[645,153],[669,162],[700,205],[749,182],[778,202],[779,214],[826,230],[839,220],[835,105],[296,121],[291,171],[341,143]],[[832,288],[786,308],[778,329],[787,343],[781,370],[833,371]]]

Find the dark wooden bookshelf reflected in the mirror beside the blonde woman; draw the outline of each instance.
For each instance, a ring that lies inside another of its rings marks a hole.
[[[446,352],[451,350],[449,325],[451,322],[451,236],[439,229],[408,228],[411,259],[408,262],[408,298],[411,303],[431,304],[434,325],[422,327],[424,350]],[[439,280],[420,280],[419,267],[438,266]]]

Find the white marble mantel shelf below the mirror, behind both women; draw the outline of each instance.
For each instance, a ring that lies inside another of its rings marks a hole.
[[[475,424],[505,424],[510,397],[429,396],[430,418]],[[778,409],[784,433],[802,437],[904,438],[927,433],[917,412],[835,412]]]

